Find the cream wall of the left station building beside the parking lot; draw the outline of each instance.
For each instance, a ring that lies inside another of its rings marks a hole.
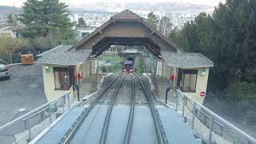
[[[50,67],[49,72],[46,72],[46,66]],[[68,92],[68,90],[55,90],[54,67],[67,67],[67,66],[42,64],[42,78],[43,78],[44,90],[45,90],[45,94],[48,102],[51,102],[55,98],[58,98],[61,95],[66,94]]]

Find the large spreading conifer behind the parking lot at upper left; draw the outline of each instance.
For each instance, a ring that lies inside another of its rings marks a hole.
[[[74,22],[70,22],[70,11],[58,0],[28,0],[22,6],[18,20],[26,27],[18,30],[24,38],[47,37],[59,33],[62,42],[75,38]]]

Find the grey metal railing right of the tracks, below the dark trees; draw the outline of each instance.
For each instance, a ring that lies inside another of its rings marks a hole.
[[[256,144],[256,139],[214,114],[202,104],[196,102],[182,91],[176,91],[175,110],[187,122],[196,138],[203,143],[217,144]]]

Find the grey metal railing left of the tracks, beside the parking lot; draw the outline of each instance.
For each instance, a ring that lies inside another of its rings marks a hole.
[[[65,111],[70,109],[72,90],[73,87],[71,86],[66,94],[1,126],[0,142],[14,144],[29,143],[41,133],[42,130],[50,126],[55,119],[65,114]]]

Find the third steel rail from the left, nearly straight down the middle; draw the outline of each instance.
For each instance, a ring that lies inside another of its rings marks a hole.
[[[131,97],[130,114],[129,114],[128,124],[126,128],[126,135],[123,141],[124,144],[130,144],[130,135],[131,135],[131,130],[134,122],[134,99],[135,98],[134,98],[134,78],[132,74],[130,74],[130,78],[132,82],[132,97]]]

